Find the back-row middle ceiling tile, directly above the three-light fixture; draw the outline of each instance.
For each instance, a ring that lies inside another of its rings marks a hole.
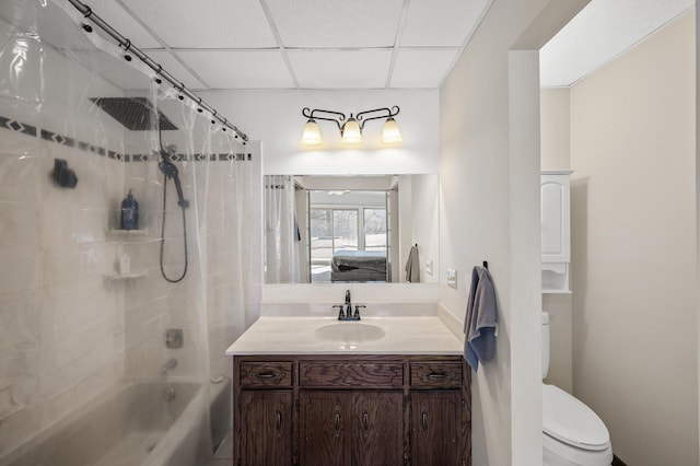
[[[288,50],[303,89],[381,89],[392,60],[390,50]]]

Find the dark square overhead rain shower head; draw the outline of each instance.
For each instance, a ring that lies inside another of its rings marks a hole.
[[[145,97],[93,97],[90,100],[131,131],[155,129],[156,110],[151,101]],[[158,121],[161,130],[177,129],[161,110],[158,110]]]

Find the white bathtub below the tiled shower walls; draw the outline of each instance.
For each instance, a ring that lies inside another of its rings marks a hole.
[[[0,466],[195,466],[211,454],[195,383],[116,387],[0,458]]]

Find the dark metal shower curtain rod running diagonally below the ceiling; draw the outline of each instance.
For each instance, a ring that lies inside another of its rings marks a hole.
[[[170,82],[182,94],[186,95],[187,97],[189,97],[190,100],[196,102],[197,105],[199,105],[200,108],[203,108],[207,112],[211,113],[211,116],[213,118],[217,118],[224,126],[224,128],[223,128],[224,131],[226,130],[226,127],[231,128],[235,132],[235,135],[236,135],[235,137],[236,138],[241,137],[241,139],[243,139],[243,144],[245,144],[247,142],[248,137],[246,136],[245,132],[242,132],[238,128],[236,128],[235,126],[231,125],[229,123],[229,120],[226,120],[226,118],[220,117],[217,114],[217,110],[213,107],[211,107],[210,105],[205,103],[201,100],[201,97],[198,97],[197,95],[195,95],[189,89],[185,88],[185,84],[183,84],[182,82],[178,82],[171,73],[165,71],[163,69],[163,67],[161,67],[159,63],[153,61],[153,59],[151,57],[149,57],[143,51],[141,51],[141,49],[139,49],[137,46],[132,45],[131,40],[129,40],[128,38],[124,37],[121,34],[119,34],[114,27],[112,27],[109,25],[109,23],[107,23],[105,20],[100,18],[96,13],[93,13],[93,11],[92,11],[92,9],[90,7],[88,7],[86,4],[82,3],[80,0],[69,0],[69,1],[72,3],[73,7],[75,7],[75,9],[78,11],[80,11],[80,13],[84,18],[86,18],[90,21],[92,21],[93,23],[95,23],[97,26],[100,26],[100,28],[102,28],[104,32],[109,34],[109,36],[113,39],[118,42],[119,46],[124,47],[125,51],[130,51],[131,54],[133,54],[137,57],[139,57],[141,59],[141,61],[143,61],[153,71],[155,71],[156,75],[163,77],[163,79],[165,79],[165,81]]]

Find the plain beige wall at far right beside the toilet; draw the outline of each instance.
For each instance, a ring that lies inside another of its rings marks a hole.
[[[571,90],[573,387],[627,464],[698,464],[695,18]]]

